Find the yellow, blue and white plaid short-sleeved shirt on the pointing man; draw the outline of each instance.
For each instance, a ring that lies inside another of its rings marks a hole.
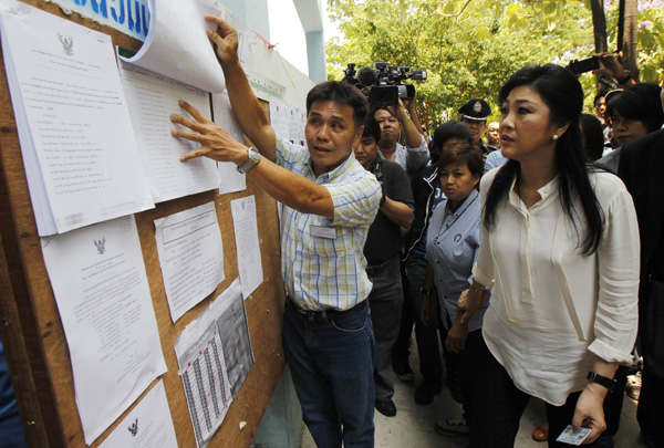
[[[381,201],[381,185],[351,155],[339,167],[315,177],[307,148],[277,139],[277,164],[324,186],[334,218],[281,211],[281,273],[286,292],[305,310],[349,310],[369,296],[363,248]],[[336,238],[311,235],[311,227],[332,228]]]

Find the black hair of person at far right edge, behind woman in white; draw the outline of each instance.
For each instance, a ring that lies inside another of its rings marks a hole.
[[[662,88],[655,83],[631,85],[624,91],[614,91],[606,96],[606,117],[618,112],[627,119],[642,122],[649,133],[657,131],[664,124],[664,111],[660,93]]]

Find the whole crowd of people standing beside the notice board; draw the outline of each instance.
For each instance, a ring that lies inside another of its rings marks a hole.
[[[427,145],[414,101],[372,107],[325,82],[308,95],[299,146],[270,127],[236,31],[207,20],[256,148],[186,103],[173,135],[200,144],[183,162],[234,162],[283,205],[283,345],[318,446],[374,445],[374,409],[397,414],[393,377],[414,379],[413,327],[414,399],[449,387],[464,414],[436,429],[470,447],[513,446],[530,397],[546,402],[549,446],[568,426],[612,446],[635,357],[643,439],[664,440],[660,87],[600,54],[624,88],[585,116],[571,71],[528,65],[498,93],[497,123],[470,98]]]

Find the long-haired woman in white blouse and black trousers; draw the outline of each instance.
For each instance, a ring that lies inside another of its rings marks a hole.
[[[568,425],[590,428],[593,442],[636,336],[634,206],[618,177],[587,163],[583,91],[571,72],[521,69],[499,102],[510,160],[480,183],[484,228],[460,317],[467,322],[492,286],[470,446],[513,446],[530,396],[547,403],[549,446]]]

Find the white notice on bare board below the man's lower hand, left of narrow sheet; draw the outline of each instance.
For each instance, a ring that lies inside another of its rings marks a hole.
[[[176,322],[224,281],[224,246],[215,202],[155,220],[170,317]]]

